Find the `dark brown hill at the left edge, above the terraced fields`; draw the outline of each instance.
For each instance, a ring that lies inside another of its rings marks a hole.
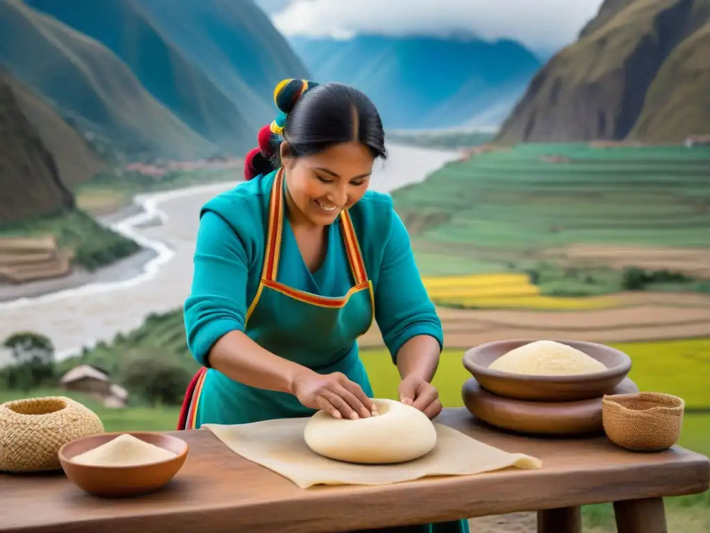
[[[74,206],[52,154],[0,72],[0,223]]]

